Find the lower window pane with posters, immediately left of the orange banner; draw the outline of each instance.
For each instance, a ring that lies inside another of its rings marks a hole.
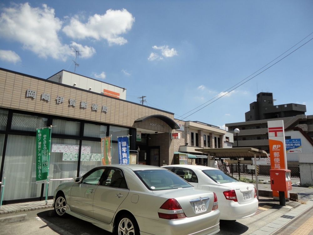
[[[83,141],[80,154],[80,175],[102,164],[100,141]]]

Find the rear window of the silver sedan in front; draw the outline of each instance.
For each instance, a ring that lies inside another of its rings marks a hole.
[[[149,190],[192,187],[187,181],[169,170],[137,170],[135,173]]]

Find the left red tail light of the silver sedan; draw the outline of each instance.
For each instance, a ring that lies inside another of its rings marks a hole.
[[[182,207],[179,205],[178,201],[174,198],[168,199],[160,209],[167,210],[168,213],[158,212],[159,218],[173,220],[173,219],[181,219],[185,218],[186,215],[182,210]]]

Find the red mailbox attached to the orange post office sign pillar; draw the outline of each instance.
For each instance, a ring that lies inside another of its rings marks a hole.
[[[287,192],[291,190],[290,170],[270,169],[271,190]]]

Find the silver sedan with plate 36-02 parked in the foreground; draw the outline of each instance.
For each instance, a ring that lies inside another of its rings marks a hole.
[[[215,193],[148,165],[96,167],[54,191],[54,210],[118,235],[219,232]]]

